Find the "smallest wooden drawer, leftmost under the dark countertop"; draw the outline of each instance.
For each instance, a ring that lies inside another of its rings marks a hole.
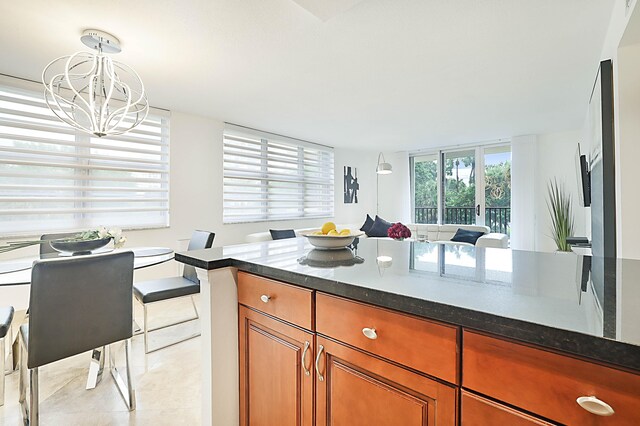
[[[313,292],[268,278],[238,272],[238,302],[312,330]]]

